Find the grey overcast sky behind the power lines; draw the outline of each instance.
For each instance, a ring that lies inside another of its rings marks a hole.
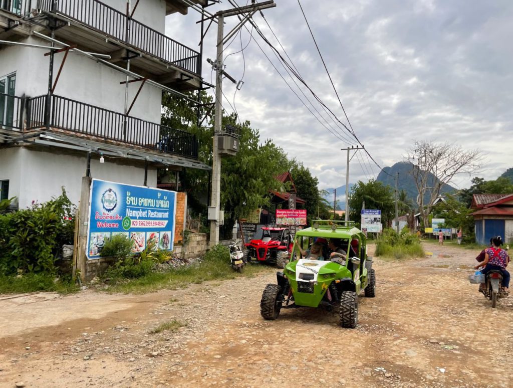
[[[297,0],[275,2],[277,7],[264,15],[291,63],[349,126]],[[414,140],[483,150],[483,168],[475,175],[485,179],[496,179],[513,167],[513,2],[301,0],[301,4],[352,127],[381,167],[402,161]],[[207,10],[228,8],[232,7],[223,0]],[[198,49],[199,18],[193,10],[187,16],[170,15],[166,33]],[[227,18],[225,31],[237,21]],[[262,16],[255,15],[254,21],[285,56]],[[243,51],[244,58],[241,52],[228,56],[241,50],[241,38],[243,47],[247,45],[250,34],[244,28],[225,50],[226,71],[236,80],[244,77],[244,86],[235,95],[241,120],[249,120],[260,129],[262,139],[271,138],[289,157],[303,161],[319,178],[321,188],[345,184],[346,153],[340,149],[356,145],[356,140],[351,141],[302,87],[313,107],[308,103],[262,38],[254,31],[253,36],[272,64],[254,41]],[[206,59],[215,58],[215,38],[213,24],[205,40],[207,82],[211,67]],[[225,80],[223,89],[223,106],[231,112],[235,87]],[[378,173],[379,168],[359,151],[351,160],[349,181],[367,181]],[[460,176],[454,185],[468,187],[471,178]]]

